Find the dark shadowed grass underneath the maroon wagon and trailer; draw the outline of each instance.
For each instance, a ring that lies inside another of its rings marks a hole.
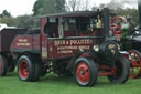
[[[7,74],[8,77],[18,77],[18,73],[13,72],[13,73],[8,73]],[[29,82],[26,82],[29,83]],[[36,82],[31,82],[31,83],[36,83],[36,84],[46,84],[46,85],[62,85],[62,86],[68,86],[68,87],[78,87],[78,85],[76,84],[74,77],[59,77],[56,74],[50,73],[45,76],[42,76],[40,79],[40,81]],[[113,83],[110,83],[108,81],[108,79],[106,76],[98,76],[97,83],[95,86],[93,86],[94,88],[109,88],[109,86],[115,86]]]

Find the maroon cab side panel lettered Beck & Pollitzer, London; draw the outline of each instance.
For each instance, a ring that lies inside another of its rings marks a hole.
[[[99,39],[51,39],[48,40],[48,59],[72,58],[79,51],[93,51],[93,46],[99,43]]]

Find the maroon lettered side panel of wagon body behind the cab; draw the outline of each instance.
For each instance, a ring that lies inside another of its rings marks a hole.
[[[40,35],[17,35],[10,49],[12,52],[40,52]]]

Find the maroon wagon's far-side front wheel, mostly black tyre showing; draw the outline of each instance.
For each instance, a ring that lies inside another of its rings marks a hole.
[[[130,65],[123,55],[119,55],[115,62],[115,74],[108,76],[109,81],[112,83],[126,83],[130,74]]]

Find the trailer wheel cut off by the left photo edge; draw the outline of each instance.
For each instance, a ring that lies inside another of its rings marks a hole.
[[[8,62],[6,56],[0,55],[0,76],[4,76],[8,72]]]

